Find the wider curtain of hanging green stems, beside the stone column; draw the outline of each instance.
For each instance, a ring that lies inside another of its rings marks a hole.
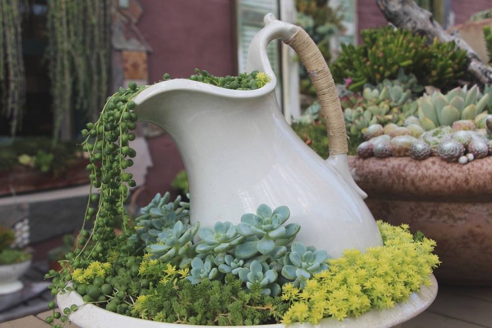
[[[48,49],[56,140],[72,109],[94,119],[106,101],[111,52],[110,0],[48,0]]]

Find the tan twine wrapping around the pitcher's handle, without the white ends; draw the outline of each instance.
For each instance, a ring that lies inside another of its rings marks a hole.
[[[346,154],[348,152],[347,134],[340,99],[338,99],[335,82],[333,82],[332,74],[323,55],[316,43],[301,28],[284,42],[299,55],[314,85],[321,105],[321,115],[326,122],[330,154]]]

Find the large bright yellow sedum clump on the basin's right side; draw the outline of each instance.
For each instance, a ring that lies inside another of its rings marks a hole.
[[[282,322],[317,324],[322,318],[359,316],[371,308],[387,309],[410,294],[429,286],[429,275],[438,266],[432,254],[435,241],[414,240],[408,225],[400,227],[377,221],[383,246],[362,254],[346,250],[344,256],[328,260],[329,269],[308,279],[303,290],[288,283],[281,298],[290,301]]]

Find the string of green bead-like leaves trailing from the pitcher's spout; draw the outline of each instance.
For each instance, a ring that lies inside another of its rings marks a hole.
[[[135,139],[131,131],[136,128],[137,121],[132,99],[143,89],[145,87],[137,87],[134,82],[130,82],[128,89],[120,88],[108,98],[99,119],[95,123],[87,123],[87,129],[82,130],[86,137],[82,147],[90,160],[86,168],[90,171],[91,180],[89,197],[78,247],[66,254],[62,270],[50,270],[45,275],[53,278],[49,286],[53,295],[73,290],[67,286],[73,269],[87,268],[92,261],[106,262],[108,248],[117,244],[113,228],[119,220],[124,233],[129,234],[130,217],[125,212],[124,202],[128,198],[129,187],[134,187],[136,182],[125,169],[133,165],[131,158],[136,156],[135,150],[129,146],[129,142]],[[86,229],[89,222],[93,223],[92,229]],[[55,302],[50,302],[48,307],[54,309]],[[77,305],[73,304],[64,308],[63,314],[53,311],[46,322],[52,324],[54,319],[60,319],[64,325],[67,315],[76,309]],[[62,324],[54,324],[53,327],[60,328]]]

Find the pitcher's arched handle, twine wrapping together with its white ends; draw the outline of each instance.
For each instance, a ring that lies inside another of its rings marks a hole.
[[[362,199],[367,198],[368,195],[357,185],[350,173],[347,159],[348,143],[345,120],[343,119],[335,82],[323,55],[321,55],[316,43],[302,28],[296,27],[294,29],[293,25],[278,21],[274,14],[267,14],[264,21],[270,27],[277,25],[277,37],[282,39],[285,44],[289,45],[299,55],[311,78],[329,136],[330,156],[326,162],[338,171],[345,182]]]

